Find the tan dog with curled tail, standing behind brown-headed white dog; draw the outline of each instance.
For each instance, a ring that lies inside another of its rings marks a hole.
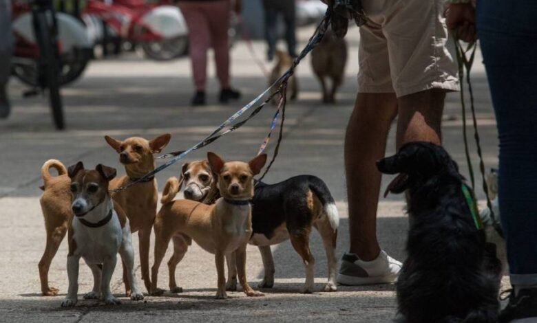
[[[116,178],[110,182],[110,189],[123,186],[137,177],[145,175],[154,170],[154,153],[160,153],[171,135],[160,135],[153,140],[145,140],[141,137],[129,137],[126,140],[114,140],[106,136],[105,139],[112,148],[119,153],[120,163],[125,166],[126,176]],[[50,175],[50,168],[58,171],[58,176]],[[67,169],[63,164],[50,159],[41,167],[41,177],[44,191],[41,195],[41,210],[45,219],[45,230],[47,241],[45,252],[39,261],[39,278],[41,279],[41,291],[43,296],[56,296],[58,289],[48,285],[48,270],[52,258],[56,255],[58,247],[67,233],[69,221],[72,219],[70,178],[67,176]],[[149,291],[149,238],[156,216],[156,206],[158,201],[158,191],[156,179],[138,183],[127,190],[118,192],[112,197],[119,203],[130,221],[131,232],[138,231],[140,240],[140,264],[142,267],[142,278],[144,279],[147,291]],[[125,274],[125,270],[124,270]],[[128,279],[123,276],[127,296],[130,293]]]

